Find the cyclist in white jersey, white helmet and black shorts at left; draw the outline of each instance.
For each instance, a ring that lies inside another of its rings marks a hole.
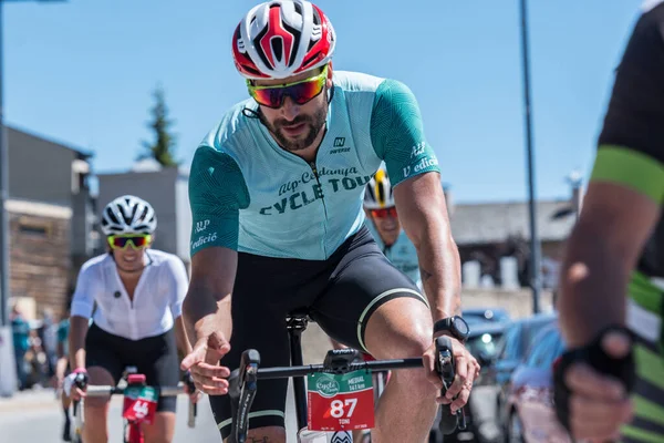
[[[179,381],[177,349],[184,354],[191,349],[181,318],[187,271],[177,256],[149,248],[156,228],[155,210],[135,196],[117,197],[102,213],[108,253],[83,265],[71,305],[72,373],[65,391],[74,400],[85,396],[72,388],[81,372],[93,385],[117,384],[128,365],[145,374],[147,384]],[[85,401],[84,442],[108,440],[108,400]],[[159,398],[154,423],[144,426],[146,443],[173,440],[175,406],[175,396]]]

